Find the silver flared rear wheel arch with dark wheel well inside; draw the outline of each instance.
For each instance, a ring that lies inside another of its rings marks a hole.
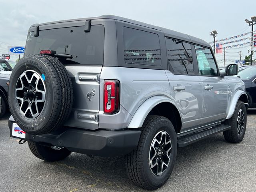
[[[169,98],[164,96],[153,96],[144,101],[136,110],[128,128],[142,127],[148,115],[159,115],[168,118],[172,122],[176,133],[180,132],[182,127],[180,113]]]

